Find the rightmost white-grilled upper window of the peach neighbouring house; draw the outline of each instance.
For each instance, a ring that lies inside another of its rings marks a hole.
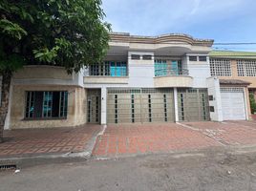
[[[238,76],[256,76],[256,60],[237,60]]]

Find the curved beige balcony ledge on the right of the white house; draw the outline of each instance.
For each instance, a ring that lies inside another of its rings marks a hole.
[[[154,77],[154,86],[156,88],[169,87],[192,87],[193,77],[188,75],[169,75]]]

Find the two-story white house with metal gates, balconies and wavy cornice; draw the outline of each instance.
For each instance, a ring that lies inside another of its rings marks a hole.
[[[87,121],[209,120],[212,44],[184,34],[113,33],[105,61],[85,71]]]

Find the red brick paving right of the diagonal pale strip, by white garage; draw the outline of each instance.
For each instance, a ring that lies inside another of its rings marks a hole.
[[[256,121],[186,122],[204,134],[220,139],[225,145],[256,144]]]

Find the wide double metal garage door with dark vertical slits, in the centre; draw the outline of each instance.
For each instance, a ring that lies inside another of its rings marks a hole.
[[[108,89],[108,123],[174,121],[172,89]]]

